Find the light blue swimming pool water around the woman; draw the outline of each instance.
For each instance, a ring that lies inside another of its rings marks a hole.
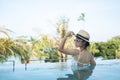
[[[119,80],[120,60],[96,61],[97,65],[87,80]],[[85,74],[85,73],[83,73]],[[87,75],[87,74],[85,74]],[[0,64],[0,80],[76,80],[71,70],[71,62],[30,63],[25,70],[24,64]]]

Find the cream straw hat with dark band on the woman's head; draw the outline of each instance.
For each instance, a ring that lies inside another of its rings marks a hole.
[[[76,37],[78,39],[82,39],[86,42],[89,42],[89,39],[90,39],[90,35],[87,31],[85,30],[80,30],[77,34],[76,34]]]

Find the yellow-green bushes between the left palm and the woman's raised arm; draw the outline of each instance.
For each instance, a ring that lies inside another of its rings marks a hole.
[[[39,59],[45,58],[45,62],[56,62],[59,59],[55,38],[44,34],[33,42],[32,53]]]

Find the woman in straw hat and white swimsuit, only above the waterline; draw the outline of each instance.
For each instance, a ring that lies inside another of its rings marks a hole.
[[[87,50],[89,46],[89,33],[85,30],[80,30],[76,35],[76,39],[74,40],[75,46],[79,49],[69,49],[64,48],[65,42],[68,37],[75,35],[73,31],[67,32],[64,38],[61,40],[58,50],[64,54],[73,55],[74,60],[77,66],[83,66],[86,64],[96,64],[92,54]]]

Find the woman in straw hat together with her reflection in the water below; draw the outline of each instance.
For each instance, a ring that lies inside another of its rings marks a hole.
[[[71,66],[73,75],[77,80],[86,80],[92,74],[92,70],[95,67],[95,60],[92,54],[87,50],[89,46],[89,33],[85,30],[80,30],[74,40],[75,46],[79,49],[68,49],[64,48],[65,42],[68,37],[75,35],[73,31],[69,31],[65,37],[61,40],[58,50],[64,54],[73,55],[74,61]],[[91,69],[91,66],[93,68]]]

